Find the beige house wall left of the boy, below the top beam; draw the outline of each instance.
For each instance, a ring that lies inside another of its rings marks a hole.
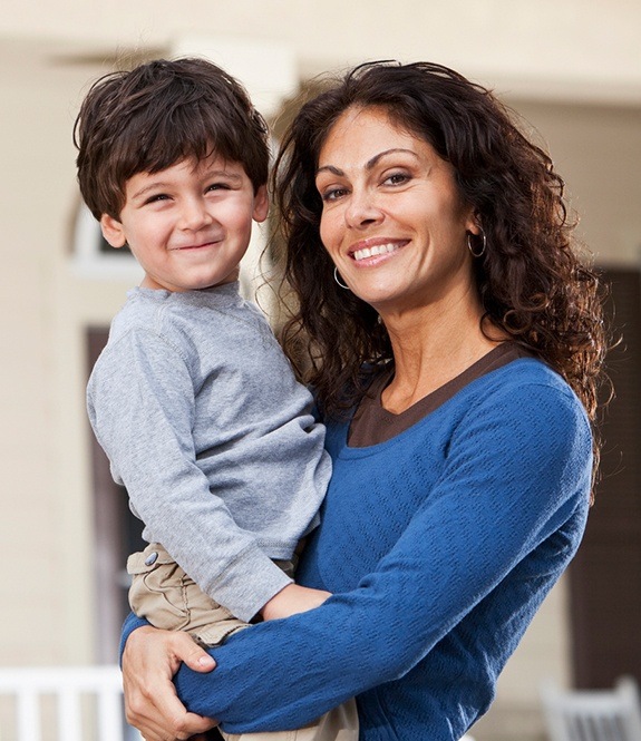
[[[77,198],[70,131],[94,70],[51,68],[33,52],[7,43],[0,51],[3,664],[91,656],[81,332],[105,321],[124,289],[75,280],[68,263]]]

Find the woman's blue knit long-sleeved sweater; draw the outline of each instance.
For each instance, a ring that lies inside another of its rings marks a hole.
[[[450,741],[579,546],[592,441],[564,381],[532,359],[484,376],[401,435],[347,446],[299,582],[321,607],[242,631],[175,677],[229,732],[303,725],[358,695],[361,741]],[[142,622],[129,617],[124,638]]]

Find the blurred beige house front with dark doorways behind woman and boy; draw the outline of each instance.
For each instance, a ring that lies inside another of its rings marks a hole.
[[[542,682],[641,679],[641,3],[638,0],[22,0],[0,13],[0,665],[113,664],[139,528],[84,389],[140,274],[80,206],[71,130],[89,85],[205,55],[275,124],[327,70],[430,60],[494,89],[565,178],[612,283],[603,477],[570,573],[511,660],[477,741],[545,738]],[[254,254],[262,235],[255,240]],[[251,281],[252,257],[245,269]],[[247,283],[250,285],[250,283]],[[542,462],[544,465],[544,461]]]

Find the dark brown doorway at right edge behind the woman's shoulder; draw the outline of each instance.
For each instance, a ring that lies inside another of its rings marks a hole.
[[[612,269],[609,314],[621,337],[608,357],[615,397],[606,408],[601,480],[570,569],[574,681],[641,682],[641,273]]]

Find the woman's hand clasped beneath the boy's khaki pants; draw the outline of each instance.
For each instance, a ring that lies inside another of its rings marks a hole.
[[[188,713],[172,677],[184,662],[196,672],[211,672],[214,660],[186,634],[139,627],[123,653],[127,722],[145,741],[184,741],[217,725],[211,718]]]

